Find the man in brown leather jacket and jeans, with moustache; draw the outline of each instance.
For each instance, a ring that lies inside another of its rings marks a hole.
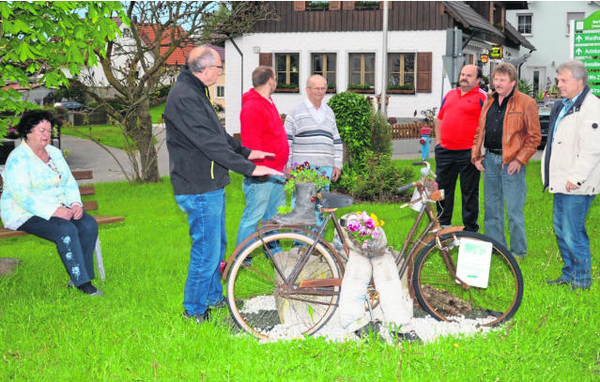
[[[512,64],[498,65],[493,81],[495,92],[481,110],[471,161],[484,172],[485,234],[506,246],[506,203],[510,250],[522,259],[527,254],[525,166],[541,141],[538,107],[533,98],[517,89],[517,69]]]

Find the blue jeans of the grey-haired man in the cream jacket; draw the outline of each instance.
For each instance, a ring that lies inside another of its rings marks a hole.
[[[595,196],[554,194],[554,231],[565,263],[561,278],[580,288],[592,283],[585,219]]]

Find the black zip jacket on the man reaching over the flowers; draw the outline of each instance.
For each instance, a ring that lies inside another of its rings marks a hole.
[[[256,165],[219,122],[206,86],[184,67],[164,113],[169,171],[175,195],[204,194],[228,185],[229,170],[249,176]]]

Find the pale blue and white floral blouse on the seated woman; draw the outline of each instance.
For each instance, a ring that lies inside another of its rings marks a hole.
[[[6,161],[0,217],[4,227],[18,229],[32,216],[50,220],[62,204],[81,203],[79,187],[59,149],[46,146],[44,163],[23,140]]]

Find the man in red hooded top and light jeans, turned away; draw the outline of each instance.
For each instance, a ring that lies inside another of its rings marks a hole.
[[[252,72],[252,86],[242,96],[240,122],[242,145],[251,150],[265,150],[274,153],[273,157],[253,160],[256,165],[283,171],[290,153],[287,134],[279,112],[271,99],[277,87],[275,71],[269,66],[259,66]],[[256,230],[261,220],[270,220],[277,207],[285,204],[281,176],[244,178],[243,189],[246,207],[238,228],[237,245]]]

